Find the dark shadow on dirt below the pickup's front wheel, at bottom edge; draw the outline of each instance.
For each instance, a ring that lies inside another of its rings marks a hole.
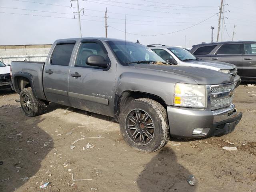
[[[196,186],[186,181],[191,173],[177,162],[176,154],[168,147],[162,148],[136,180],[140,192],[193,192]]]

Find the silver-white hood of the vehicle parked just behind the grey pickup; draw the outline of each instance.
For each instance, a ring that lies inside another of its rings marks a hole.
[[[192,60],[185,63],[190,63],[195,65],[195,67],[202,67],[202,68],[208,68],[213,70],[220,70],[220,69],[234,69],[236,68],[235,65],[230,63],[224,63],[224,62],[218,62],[218,61],[207,61],[207,60]],[[214,69],[215,68],[215,69]]]

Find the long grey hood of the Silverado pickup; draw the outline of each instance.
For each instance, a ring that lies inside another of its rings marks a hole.
[[[182,76],[195,80],[199,85],[214,85],[233,82],[233,77],[223,72],[218,72],[206,68],[177,65],[155,65],[155,64],[135,64],[135,68],[144,68],[180,75],[177,82],[182,82]]]

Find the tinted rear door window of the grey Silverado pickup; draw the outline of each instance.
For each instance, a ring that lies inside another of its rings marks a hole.
[[[52,65],[68,66],[75,44],[57,44],[51,58]]]

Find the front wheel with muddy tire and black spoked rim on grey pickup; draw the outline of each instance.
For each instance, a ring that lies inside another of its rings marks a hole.
[[[155,100],[132,100],[121,111],[119,120],[122,137],[135,150],[154,152],[170,138],[166,110]]]

